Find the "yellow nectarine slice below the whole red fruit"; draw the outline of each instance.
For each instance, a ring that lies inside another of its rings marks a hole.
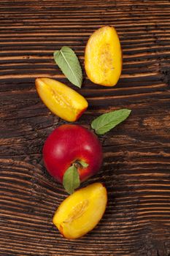
[[[90,184],[67,197],[58,207],[53,223],[65,238],[80,238],[98,224],[107,206],[107,189]]]

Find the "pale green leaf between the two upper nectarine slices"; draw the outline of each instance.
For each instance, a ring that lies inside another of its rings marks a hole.
[[[66,75],[66,78],[68,78],[74,86],[81,88],[82,69],[74,51],[68,46],[63,46],[61,50],[54,52],[54,59],[63,74]]]

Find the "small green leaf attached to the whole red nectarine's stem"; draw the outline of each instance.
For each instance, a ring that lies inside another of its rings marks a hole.
[[[74,165],[70,166],[63,176],[63,187],[66,189],[66,192],[72,194],[74,189],[80,186],[80,176],[77,171],[77,167]]]

